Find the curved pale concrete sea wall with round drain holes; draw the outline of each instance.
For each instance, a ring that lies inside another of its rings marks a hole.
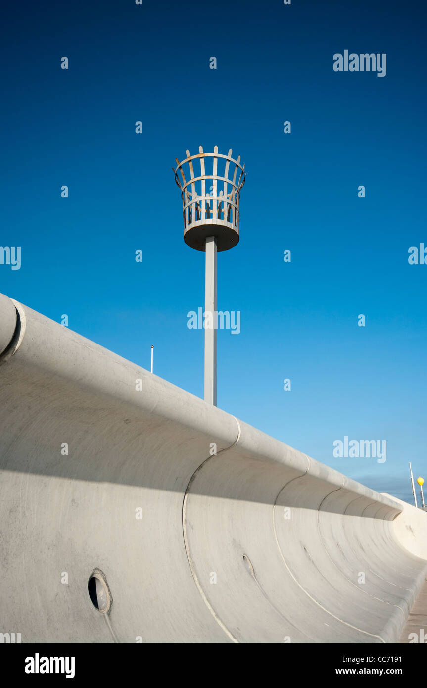
[[[400,504],[6,297],[0,343],[0,632],[397,641],[427,567]]]

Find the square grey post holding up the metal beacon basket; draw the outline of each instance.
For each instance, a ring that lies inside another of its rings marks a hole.
[[[205,376],[204,400],[212,406],[217,405],[217,239],[206,237],[205,268]],[[210,314],[210,315],[208,315]]]

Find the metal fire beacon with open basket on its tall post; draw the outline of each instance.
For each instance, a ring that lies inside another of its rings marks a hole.
[[[217,252],[227,251],[239,242],[240,191],[245,183],[245,166],[227,155],[186,151],[177,162],[175,182],[181,189],[184,216],[184,241],[204,251],[205,263],[205,367],[204,400],[217,405]],[[200,169],[200,171],[199,171]],[[229,175],[230,174],[230,175]],[[208,321],[209,325],[206,326]]]

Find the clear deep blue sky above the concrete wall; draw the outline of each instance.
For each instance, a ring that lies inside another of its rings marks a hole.
[[[408,461],[427,473],[427,266],[408,264],[427,246],[420,12],[8,3],[0,244],[21,246],[21,269],[0,265],[0,291],[143,367],[155,345],[155,373],[203,396],[203,332],[186,325],[204,255],[184,244],[171,168],[199,144],[232,148],[248,176],[218,307],[241,333],[218,333],[219,407],[410,500]],[[386,54],[386,76],[334,72],[344,50]],[[386,462],[333,458],[344,436],[386,440]]]

